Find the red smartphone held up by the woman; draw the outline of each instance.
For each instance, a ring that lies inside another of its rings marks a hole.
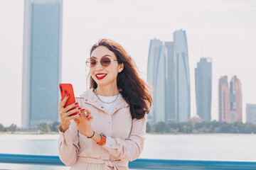
[[[68,101],[65,103],[64,108],[67,106],[70,106],[70,104],[75,103],[75,95],[74,95],[72,84],[59,84],[59,86],[60,86],[61,100],[63,100],[63,98],[65,98],[65,96],[69,94]],[[71,110],[75,108],[76,107],[71,108]],[[76,115],[76,114],[78,114],[78,112],[72,113],[71,115]]]

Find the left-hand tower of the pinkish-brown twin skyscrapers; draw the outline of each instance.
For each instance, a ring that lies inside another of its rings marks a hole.
[[[228,77],[220,77],[218,82],[218,110],[219,120],[230,123],[230,91],[228,89]]]

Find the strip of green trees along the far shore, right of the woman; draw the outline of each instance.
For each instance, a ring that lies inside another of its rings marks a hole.
[[[146,132],[156,133],[256,133],[256,125],[252,123],[225,123],[217,122],[202,122],[192,125],[191,123],[164,123],[159,122],[155,125],[146,124]]]

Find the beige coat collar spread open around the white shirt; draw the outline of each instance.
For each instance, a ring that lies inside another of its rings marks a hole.
[[[96,96],[96,94],[93,90],[94,89],[92,88],[92,89],[89,89],[89,90],[83,92],[82,94],[80,94],[80,97],[83,98],[85,103],[95,106],[96,108],[99,108],[102,111],[105,111],[102,101],[100,101],[100,99]],[[129,104],[124,100],[123,96],[121,95],[117,99],[117,102],[114,104],[114,109],[113,109],[112,113],[119,110],[120,108],[125,108],[128,106],[129,106]]]

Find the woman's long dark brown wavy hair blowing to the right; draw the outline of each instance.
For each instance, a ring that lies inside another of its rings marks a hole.
[[[114,52],[119,64],[124,64],[122,72],[117,74],[117,87],[121,89],[120,94],[130,106],[132,119],[144,118],[145,114],[149,114],[149,108],[152,104],[150,87],[139,77],[137,67],[132,57],[130,57],[119,43],[109,39],[99,40],[92,45],[90,55],[93,50],[99,46],[105,46],[108,50]],[[97,83],[90,76],[90,88],[97,88]]]

